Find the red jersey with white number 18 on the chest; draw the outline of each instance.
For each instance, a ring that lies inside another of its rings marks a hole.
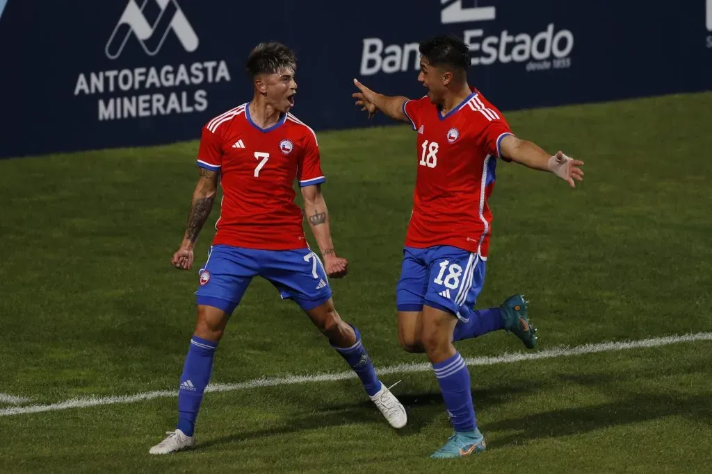
[[[403,111],[418,132],[418,173],[407,247],[449,245],[487,258],[492,193],[502,139],[511,129],[477,90],[443,115],[428,97]]]

